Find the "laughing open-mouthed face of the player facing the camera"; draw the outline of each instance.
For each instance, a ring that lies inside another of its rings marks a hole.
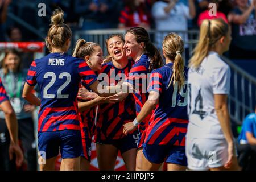
[[[125,49],[123,48],[124,44],[125,43],[123,42],[123,40],[118,36],[114,36],[108,40],[108,52],[113,60],[119,61],[122,59],[127,59]]]

